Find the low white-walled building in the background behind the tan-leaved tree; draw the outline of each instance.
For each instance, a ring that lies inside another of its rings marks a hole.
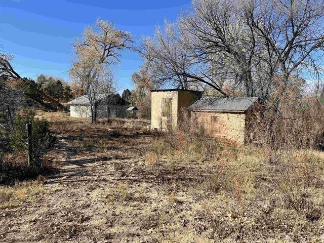
[[[106,118],[107,113],[110,117],[125,117],[130,106],[130,103],[121,99],[118,94],[99,94],[98,102],[97,118]],[[66,104],[70,105],[71,117],[91,117],[91,106],[87,96],[80,96]]]

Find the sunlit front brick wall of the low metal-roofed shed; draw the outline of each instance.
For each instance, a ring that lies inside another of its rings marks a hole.
[[[203,124],[212,136],[244,143],[246,115],[244,113],[220,113],[191,111],[191,119]]]

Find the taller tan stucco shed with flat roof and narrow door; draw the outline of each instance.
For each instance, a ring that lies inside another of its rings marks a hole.
[[[167,130],[176,128],[183,112],[201,97],[200,91],[165,89],[152,90],[151,93],[151,129]]]

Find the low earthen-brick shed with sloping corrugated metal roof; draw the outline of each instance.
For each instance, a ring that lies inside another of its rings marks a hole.
[[[188,107],[191,119],[204,125],[215,137],[222,137],[236,143],[244,143],[249,136],[248,124],[253,119],[252,109],[259,98],[204,98]]]

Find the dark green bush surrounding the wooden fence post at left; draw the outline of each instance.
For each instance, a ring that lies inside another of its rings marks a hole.
[[[27,165],[27,123],[32,124],[32,158],[34,162],[32,167]],[[48,165],[42,165],[41,158],[51,148],[53,142],[54,137],[51,135],[47,120],[36,119],[32,110],[18,111],[14,129],[10,132],[11,150],[2,154],[0,183],[31,179],[41,173],[52,171]]]

